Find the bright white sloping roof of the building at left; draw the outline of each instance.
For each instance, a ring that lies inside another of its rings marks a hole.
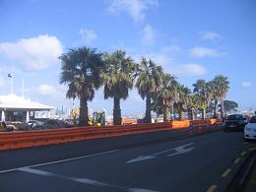
[[[9,95],[0,96],[0,110],[24,110],[39,111],[50,110],[54,107],[32,101],[23,96]]]

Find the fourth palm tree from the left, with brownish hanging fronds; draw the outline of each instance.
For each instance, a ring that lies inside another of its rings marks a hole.
[[[178,98],[178,83],[170,74],[164,74],[163,81],[158,89],[158,102],[163,108],[163,121],[170,120],[170,107]]]

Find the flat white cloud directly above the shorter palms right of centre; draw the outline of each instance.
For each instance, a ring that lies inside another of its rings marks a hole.
[[[189,63],[173,65],[171,72],[176,76],[202,76],[206,74],[207,70],[202,65]]]

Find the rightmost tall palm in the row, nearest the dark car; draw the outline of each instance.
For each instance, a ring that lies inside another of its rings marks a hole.
[[[223,75],[218,75],[213,80],[213,84],[215,85],[214,92],[216,95],[216,99],[219,99],[221,101],[221,118],[222,119],[224,119],[224,97],[226,96],[226,94],[229,90],[229,82],[227,80],[228,80],[228,78],[224,77]]]

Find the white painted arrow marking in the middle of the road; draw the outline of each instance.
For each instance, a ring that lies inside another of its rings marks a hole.
[[[183,146],[179,146],[179,147],[172,148],[172,149],[169,149],[169,150],[164,150],[162,152],[158,152],[158,153],[151,154],[151,155],[148,155],[148,156],[140,156],[140,157],[135,158],[133,160],[128,160],[128,161],[126,161],[126,163],[155,159],[155,158],[158,158],[158,156],[160,156],[162,154],[166,154],[166,153],[171,152],[171,151],[174,151],[174,153],[169,154],[166,157],[176,156],[176,155],[180,155],[180,154],[186,154],[186,153],[191,152],[194,149],[194,148],[186,149],[186,147],[191,146],[193,144],[194,143],[189,143],[189,144],[186,144],[186,145],[183,145]]]

